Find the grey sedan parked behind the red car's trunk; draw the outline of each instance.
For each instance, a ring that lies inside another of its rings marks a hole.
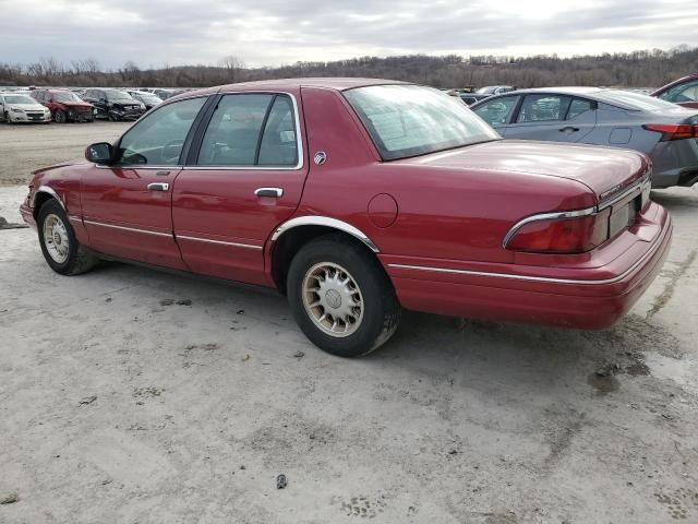
[[[520,90],[471,106],[505,139],[636,150],[652,159],[652,187],[698,182],[698,110],[628,91]]]

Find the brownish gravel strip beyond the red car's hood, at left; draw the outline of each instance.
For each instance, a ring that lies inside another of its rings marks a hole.
[[[26,183],[39,167],[83,158],[95,142],[112,142],[131,123],[0,123],[0,186]]]

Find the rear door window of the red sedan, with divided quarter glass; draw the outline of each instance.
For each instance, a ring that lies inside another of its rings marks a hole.
[[[287,95],[226,95],[198,153],[200,166],[292,167],[298,164],[296,115]]]

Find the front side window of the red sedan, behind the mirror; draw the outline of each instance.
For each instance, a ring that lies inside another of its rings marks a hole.
[[[122,136],[118,163],[177,165],[184,139],[205,102],[205,97],[180,100],[145,116]]]

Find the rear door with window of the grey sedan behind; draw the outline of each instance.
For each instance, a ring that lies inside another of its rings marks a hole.
[[[597,104],[587,98],[559,94],[524,97],[507,139],[579,142],[597,124]]]

